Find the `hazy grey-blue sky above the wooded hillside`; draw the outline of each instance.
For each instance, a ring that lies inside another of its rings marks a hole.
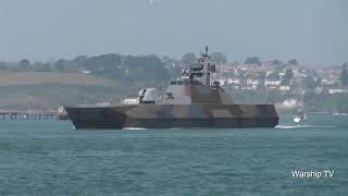
[[[0,60],[119,52],[348,61],[347,0],[0,0]]]

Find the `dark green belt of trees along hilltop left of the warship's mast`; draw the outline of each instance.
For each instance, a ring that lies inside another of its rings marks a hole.
[[[85,73],[112,79],[167,79],[173,74],[169,66],[157,56],[122,56],[116,53],[97,57],[80,56],[73,60],[60,59],[52,62],[24,59],[20,62],[0,62],[0,71],[44,72],[44,73]]]

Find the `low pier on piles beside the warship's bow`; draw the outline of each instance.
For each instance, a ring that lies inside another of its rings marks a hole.
[[[64,109],[0,109],[0,121],[10,120],[66,120],[67,114]]]

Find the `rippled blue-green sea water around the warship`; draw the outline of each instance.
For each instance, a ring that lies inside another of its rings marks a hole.
[[[348,117],[250,130],[0,121],[0,195],[348,195]]]

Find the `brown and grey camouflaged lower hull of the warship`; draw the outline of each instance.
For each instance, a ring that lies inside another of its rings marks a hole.
[[[135,105],[65,108],[76,128],[274,127],[273,105]]]

